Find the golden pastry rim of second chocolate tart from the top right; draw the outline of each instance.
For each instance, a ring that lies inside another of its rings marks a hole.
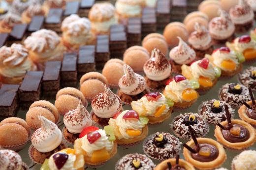
[[[251,126],[249,123],[246,123],[243,120],[238,120],[238,119],[231,120],[231,123],[242,125],[243,127],[245,127],[249,131],[249,134],[250,134],[249,139],[245,142],[236,142],[236,143],[228,142],[223,137],[222,128],[220,128],[219,126],[216,126],[215,131],[214,131],[214,136],[217,138],[218,142],[222,143],[223,145],[227,146],[228,148],[236,149],[236,150],[246,149],[246,148],[252,146],[254,144],[254,142],[256,142],[256,131],[253,128],[253,126]],[[223,122],[221,122],[221,124],[223,126],[226,126],[228,123],[227,123],[227,121],[223,121]]]

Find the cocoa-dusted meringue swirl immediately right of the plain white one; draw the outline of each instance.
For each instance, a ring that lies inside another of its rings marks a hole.
[[[92,118],[80,100],[76,109],[65,113],[63,122],[70,133],[79,134],[85,127],[92,125]]]

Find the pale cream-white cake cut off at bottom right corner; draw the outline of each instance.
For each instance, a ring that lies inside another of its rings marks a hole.
[[[232,170],[256,170],[256,151],[245,150],[235,156],[231,163]]]

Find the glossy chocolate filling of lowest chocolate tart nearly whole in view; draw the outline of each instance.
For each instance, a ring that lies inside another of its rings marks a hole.
[[[215,160],[219,156],[219,150],[214,145],[202,143],[199,144],[199,146],[195,146],[194,149],[198,149],[197,147],[199,147],[198,153],[191,153],[192,158],[197,161],[210,162]],[[200,154],[201,150],[209,150],[210,154]]]

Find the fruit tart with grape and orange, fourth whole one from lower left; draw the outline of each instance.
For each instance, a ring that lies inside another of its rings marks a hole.
[[[185,109],[192,106],[196,102],[199,94],[196,92],[199,88],[199,83],[196,81],[189,81],[184,76],[176,75],[173,79],[167,82],[163,95],[174,102],[174,107]]]

